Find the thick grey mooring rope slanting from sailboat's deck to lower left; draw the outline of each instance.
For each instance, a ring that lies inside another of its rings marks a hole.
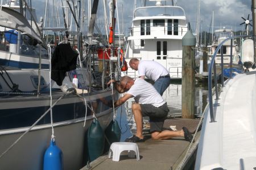
[[[0,155],[0,159],[1,159],[1,157],[3,157],[3,155],[5,155],[9,150],[11,150],[11,148],[13,148],[13,147],[15,146],[15,144],[18,143],[19,140],[22,139],[23,136],[27,134],[27,132],[29,132],[36,124],[38,124],[38,122],[41,121],[41,119],[46,116],[46,114],[49,112],[49,110],[51,110],[52,107],[54,107],[54,106],[56,105],[56,103],[60,101],[61,98],[63,98],[65,95],[68,95],[68,94],[70,94],[70,93],[72,93],[72,92],[68,92],[68,93],[65,93],[65,94],[63,94],[62,96],[60,96],[60,97],[57,99],[57,101],[56,101],[55,103],[53,103],[53,105],[52,105],[51,107],[49,107],[49,109],[48,109],[32,126],[30,126],[30,128],[28,128],[28,130],[26,130],[22,135],[20,135],[19,138],[18,138],[17,140],[15,140],[15,142],[14,142],[13,144],[11,144],[11,146],[10,146],[9,148],[7,148],[7,150],[4,151],[4,152]]]

